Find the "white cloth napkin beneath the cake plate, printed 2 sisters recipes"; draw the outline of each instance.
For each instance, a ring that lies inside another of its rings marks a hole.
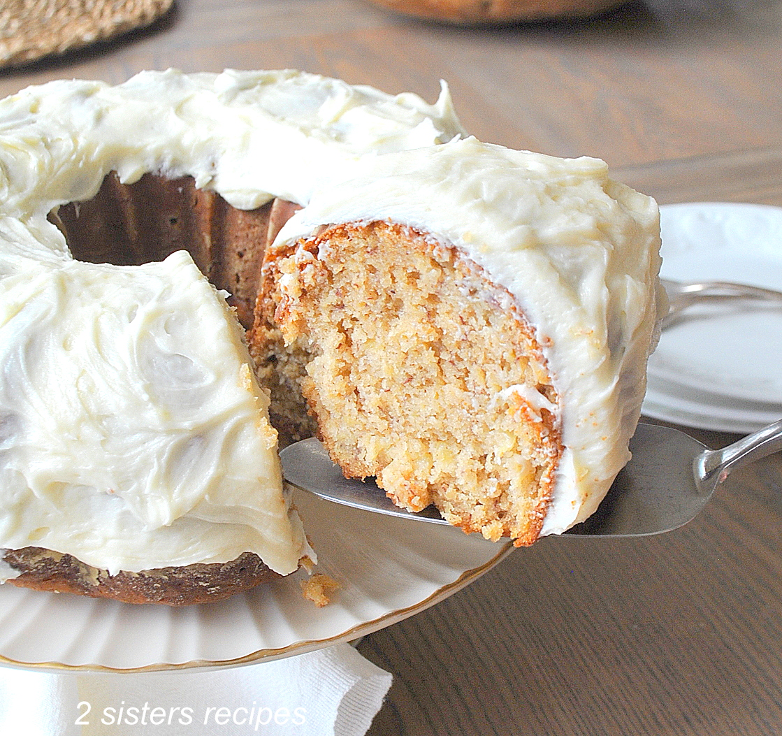
[[[203,673],[0,667],[0,734],[363,736],[391,680],[350,644]]]

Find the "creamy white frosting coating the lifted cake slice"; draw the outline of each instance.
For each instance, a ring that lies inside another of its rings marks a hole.
[[[321,188],[277,242],[374,220],[457,246],[515,296],[547,359],[565,446],[542,533],[586,519],[630,458],[667,311],[655,201],[608,178],[601,160],[467,138],[364,160],[350,181]]]

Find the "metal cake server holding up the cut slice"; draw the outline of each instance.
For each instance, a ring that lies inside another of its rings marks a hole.
[[[639,424],[630,440],[633,458],[587,521],[569,534],[645,537],[683,526],[701,512],[728,473],[782,450],[782,420],[722,450],[678,429]],[[282,472],[293,486],[339,504],[404,519],[444,524],[433,507],[414,514],[395,506],[370,478],[346,479],[318,440],[302,440],[280,453]]]

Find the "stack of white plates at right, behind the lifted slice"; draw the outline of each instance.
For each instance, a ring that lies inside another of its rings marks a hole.
[[[782,290],[782,208],[691,203],[660,210],[665,278]],[[687,319],[663,332],[651,356],[655,394],[644,402],[644,414],[703,429],[758,429],[764,418],[782,412],[780,364],[779,307],[693,307]]]

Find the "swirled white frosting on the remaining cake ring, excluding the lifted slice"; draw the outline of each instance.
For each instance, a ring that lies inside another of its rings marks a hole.
[[[295,71],[58,81],[0,102],[0,547],[116,573],[313,556],[224,293],[185,252],[74,260],[47,221],[106,174],[185,174],[249,209],[306,204],[365,157],[462,133],[416,95]]]

